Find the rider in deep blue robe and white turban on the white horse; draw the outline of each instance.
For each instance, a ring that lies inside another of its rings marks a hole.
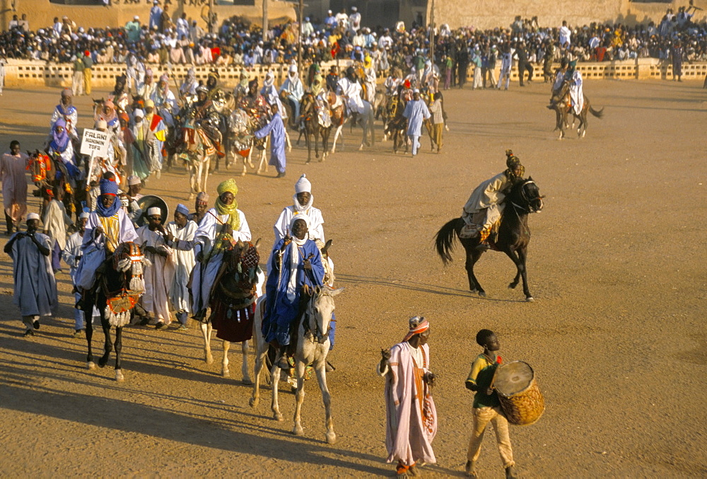
[[[290,222],[292,236],[275,243],[269,259],[262,333],[266,342],[277,342],[281,357],[311,289],[322,286],[324,281],[322,255],[317,243],[309,239],[308,229],[307,215],[296,214]],[[289,368],[286,362],[282,366]]]

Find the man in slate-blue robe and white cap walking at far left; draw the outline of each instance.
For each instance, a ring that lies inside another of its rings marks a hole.
[[[57,306],[57,282],[52,272],[52,238],[37,231],[40,215],[27,215],[27,231],[11,236],[4,251],[13,260],[13,303],[20,308],[25,336],[40,328],[40,316],[52,316]]]

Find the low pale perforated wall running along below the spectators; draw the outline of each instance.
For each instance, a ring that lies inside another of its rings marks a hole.
[[[351,62],[339,62],[339,68],[348,67]],[[322,71],[328,71],[331,65],[336,62],[322,64]],[[557,67],[558,65],[555,65]],[[155,78],[166,73],[170,76],[170,87],[176,88],[177,83],[181,83],[182,79],[187,76],[189,65],[176,65],[171,69],[160,67],[160,65],[149,66],[155,73]],[[52,87],[70,87],[73,71],[71,64],[47,64],[45,62],[27,62],[18,60],[9,60],[5,67],[6,77],[5,84],[7,88],[30,89],[43,86]],[[206,82],[206,77],[209,71],[214,69],[211,65],[202,65],[194,67],[197,74],[197,80]],[[238,84],[240,79],[240,67],[217,67],[221,76],[221,84],[228,88],[233,88]],[[276,83],[280,84],[284,81],[287,75],[287,68],[283,65],[275,65],[272,67],[264,67],[258,65],[249,69],[249,79],[258,79],[262,85],[262,81],[267,74],[267,71],[272,69],[275,74]],[[672,64],[670,62],[661,62],[658,59],[638,59],[627,60],[625,62],[601,62],[592,63],[585,62],[577,65],[577,69],[582,73],[585,80],[595,79],[672,79]],[[94,88],[107,89],[115,85],[115,77],[125,72],[124,64],[103,64],[96,65],[93,68]],[[472,81],[474,69],[469,67],[468,81]],[[496,79],[500,68],[496,68]],[[682,67],[684,79],[704,79],[707,76],[707,62],[684,63]],[[511,71],[511,79],[518,80],[518,69],[513,67]],[[383,79],[379,79],[382,81]],[[542,68],[535,68],[533,72],[534,81],[542,81]]]

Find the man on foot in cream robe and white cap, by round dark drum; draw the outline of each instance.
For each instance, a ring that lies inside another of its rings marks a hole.
[[[140,302],[151,316],[143,318],[142,325],[155,320],[155,328],[166,328],[170,322],[169,291],[174,281],[172,248],[167,246],[166,233],[163,233],[162,212],[158,207],[148,208],[148,224],[140,226],[136,233],[145,258],[150,260],[144,267],[145,293]]]

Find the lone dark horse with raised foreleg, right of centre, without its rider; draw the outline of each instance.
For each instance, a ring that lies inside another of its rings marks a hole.
[[[527,258],[527,247],[530,243],[530,229],[527,224],[527,217],[530,213],[542,211],[543,203],[539,188],[532,177],[527,180],[520,180],[506,195],[505,208],[501,215],[501,224],[498,226],[498,238],[496,248],[498,251],[506,253],[508,258],[515,264],[516,275],[513,282],[508,284],[510,289],[518,286],[518,280],[522,277],[523,293],[526,301],[534,301],[527,284],[527,274],[525,260]],[[478,293],[481,297],[486,297],[484,288],[479,284],[479,280],[474,276],[474,264],[481,258],[483,250],[479,246],[479,237],[459,238],[459,233],[464,226],[463,218],[455,218],[442,226],[435,236],[435,247],[437,254],[445,265],[452,262],[451,252],[454,249],[455,238],[464,246],[467,255],[466,270],[469,277],[469,289],[472,293]]]

